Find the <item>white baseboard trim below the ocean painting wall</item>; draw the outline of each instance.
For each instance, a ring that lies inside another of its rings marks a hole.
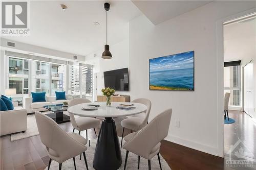
[[[194,149],[194,150],[205,152],[207,154],[218,156],[218,149],[217,148],[209,147],[209,146],[203,145],[201,143],[196,143],[196,142],[193,142],[193,141],[185,140],[185,139],[173,136],[173,135],[168,135],[165,138],[165,140],[183,145],[184,147],[188,147],[188,148],[191,148],[191,149]]]

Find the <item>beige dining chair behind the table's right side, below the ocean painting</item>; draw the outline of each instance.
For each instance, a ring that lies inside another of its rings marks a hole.
[[[133,103],[141,103],[147,106],[146,112],[142,113],[144,116],[140,117],[130,117],[123,119],[121,121],[121,126],[123,127],[123,132],[124,128],[130,129],[131,132],[133,131],[139,131],[142,128],[144,128],[148,122],[148,117],[150,116],[150,110],[151,110],[151,101],[148,99],[140,98],[140,99],[135,99],[132,101]],[[141,114],[140,114],[141,115]],[[123,142],[123,132],[122,132],[122,139],[121,139],[121,148],[122,148],[122,142]]]

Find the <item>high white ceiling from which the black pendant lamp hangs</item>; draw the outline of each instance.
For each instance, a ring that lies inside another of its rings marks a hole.
[[[60,4],[68,8],[64,11]],[[54,50],[87,55],[104,48],[106,12],[104,1],[31,1],[30,35],[3,36],[6,39]],[[131,1],[112,1],[109,16],[109,44],[129,35],[129,21],[142,13]],[[99,22],[95,26],[93,22]]]

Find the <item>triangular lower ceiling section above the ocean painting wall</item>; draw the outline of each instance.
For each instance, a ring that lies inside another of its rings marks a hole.
[[[132,1],[155,25],[212,1]]]

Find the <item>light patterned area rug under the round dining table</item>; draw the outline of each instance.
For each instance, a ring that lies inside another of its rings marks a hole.
[[[120,138],[119,138],[120,139]],[[91,140],[91,147],[88,147],[87,144],[87,151],[86,151],[86,159],[87,159],[87,163],[88,163],[88,168],[89,169],[94,169],[93,168],[93,157],[94,157],[94,151],[95,151],[95,145],[96,145],[97,139]],[[121,154],[122,154],[122,165],[119,169],[123,169],[124,167],[124,160],[125,160],[125,154],[126,154],[126,150],[121,149]],[[82,160],[79,159],[80,156],[76,156],[75,160],[76,160],[76,169],[86,169],[86,163],[84,163],[84,159],[82,156]],[[161,165],[162,165],[162,169],[166,170],[166,169],[170,169],[169,165],[167,164],[167,162],[164,160],[164,158],[160,155],[160,160],[161,160]],[[51,166],[50,169],[58,169],[59,167],[59,163],[56,161],[51,162]],[[47,169],[48,167],[46,167],[45,169]],[[64,169],[75,169],[74,168],[74,163],[73,163],[73,159],[69,159],[65,162],[62,163],[62,170]],[[127,159],[127,164],[126,164],[126,169],[138,169],[138,156],[133,154],[133,153],[129,153],[128,159]],[[140,169],[148,169],[148,164],[147,164],[147,160],[144,158],[140,158]],[[151,169],[160,169],[159,166],[159,162],[157,159],[157,155],[151,159]],[[107,169],[106,169],[107,170]]]

